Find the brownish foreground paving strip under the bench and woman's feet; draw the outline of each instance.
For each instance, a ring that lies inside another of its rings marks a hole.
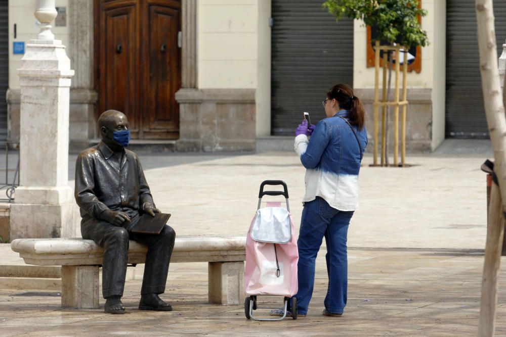
[[[172,312],[138,310],[139,279],[126,283],[125,315],[61,309],[56,292],[1,290],[0,335],[472,336],[477,333],[482,261],[481,253],[466,251],[350,249],[348,306],[342,317],[326,317],[321,315],[326,271],[320,254],[308,316],[280,322],[247,320],[242,305],[207,304],[205,263],[171,265],[162,298],[173,304]],[[500,281],[504,284],[506,278]],[[502,287],[498,336],[506,334],[505,299]],[[281,301],[259,297],[255,314],[266,314],[262,308]]]

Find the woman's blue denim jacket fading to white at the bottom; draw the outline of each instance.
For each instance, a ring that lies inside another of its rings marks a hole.
[[[309,140],[305,134],[295,137],[295,151],[307,169],[303,202],[321,197],[340,211],[358,209],[358,173],[367,146],[367,131],[352,125],[362,148],[359,150],[350,125],[339,117],[347,115],[347,110],[340,110],[333,117],[322,119]]]

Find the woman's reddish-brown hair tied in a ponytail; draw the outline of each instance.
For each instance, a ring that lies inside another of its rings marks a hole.
[[[350,124],[356,125],[359,130],[365,124],[364,106],[353,94],[353,89],[348,84],[336,84],[327,91],[327,98],[338,101],[339,108],[348,110]]]

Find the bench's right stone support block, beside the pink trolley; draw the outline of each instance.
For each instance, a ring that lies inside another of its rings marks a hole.
[[[209,262],[208,279],[210,303],[242,303],[244,262]]]

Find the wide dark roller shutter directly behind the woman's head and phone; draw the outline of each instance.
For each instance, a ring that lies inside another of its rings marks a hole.
[[[353,20],[335,18],[321,0],[272,0],[271,119],[273,135],[292,135],[336,83],[353,85]],[[365,62],[365,55],[364,55]]]

